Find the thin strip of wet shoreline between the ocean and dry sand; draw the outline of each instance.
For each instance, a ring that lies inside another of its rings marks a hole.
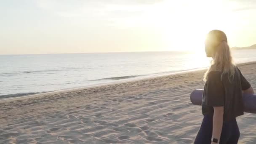
[[[254,63],[256,63],[256,61],[242,62],[242,63],[237,63],[236,65],[237,66],[243,66],[243,65],[254,64]],[[45,95],[52,95],[52,94],[56,94],[56,93],[67,93],[67,92],[72,92],[72,91],[81,91],[81,90],[84,90],[84,89],[104,87],[104,86],[109,86],[109,85],[117,85],[117,84],[122,84],[122,83],[131,83],[131,82],[137,82],[137,81],[141,81],[141,80],[150,80],[150,79],[154,79],[154,78],[158,78],[158,77],[168,77],[168,76],[172,76],[172,75],[182,75],[182,74],[186,74],[186,73],[189,73],[189,72],[202,72],[202,71],[205,71],[206,69],[208,69],[208,67],[185,70],[185,71],[181,71],[181,72],[174,72],[174,73],[170,73],[170,74],[132,78],[132,79],[128,79],[128,80],[122,80],[122,81],[116,81],[116,82],[110,82],[110,83],[100,83],[100,84],[96,84],[96,85],[89,85],[89,86],[79,87],[79,88],[69,88],[69,89],[64,89],[64,90],[59,90],[59,91],[37,93],[37,94],[26,95],[26,96],[3,98],[3,99],[0,99],[0,102],[30,99],[30,98],[35,98],[35,97],[40,97],[40,96],[45,96]]]

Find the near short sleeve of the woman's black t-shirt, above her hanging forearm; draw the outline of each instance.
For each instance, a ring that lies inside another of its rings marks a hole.
[[[211,107],[224,106],[225,90],[221,81],[220,72],[210,72],[208,74],[206,88],[206,105]]]

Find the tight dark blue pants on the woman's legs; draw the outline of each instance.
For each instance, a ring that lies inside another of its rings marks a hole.
[[[205,115],[194,144],[211,144],[212,131],[213,115]],[[239,136],[240,131],[234,118],[229,122],[223,123],[219,144],[237,144]]]

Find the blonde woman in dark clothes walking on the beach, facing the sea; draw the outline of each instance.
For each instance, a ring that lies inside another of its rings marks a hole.
[[[233,64],[224,32],[208,33],[205,52],[213,60],[204,76],[204,117],[194,144],[237,144],[240,131],[236,117],[243,115],[242,93],[253,93],[253,89]]]

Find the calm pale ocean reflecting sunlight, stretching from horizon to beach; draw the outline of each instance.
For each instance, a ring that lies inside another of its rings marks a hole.
[[[232,50],[236,63],[256,50]],[[123,52],[0,55],[0,99],[206,68],[205,53]]]

